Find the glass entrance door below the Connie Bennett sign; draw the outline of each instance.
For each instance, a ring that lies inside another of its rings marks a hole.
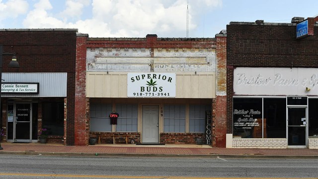
[[[31,103],[15,103],[14,142],[31,142]]]

